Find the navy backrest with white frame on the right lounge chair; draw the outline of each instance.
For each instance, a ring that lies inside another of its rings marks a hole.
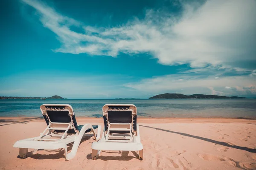
[[[132,123],[133,132],[137,130],[137,108],[134,105],[106,104],[102,110],[105,130],[108,130],[108,122]]]

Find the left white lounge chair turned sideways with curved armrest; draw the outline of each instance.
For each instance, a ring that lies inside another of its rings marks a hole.
[[[100,125],[77,125],[73,108],[70,105],[44,104],[40,107],[41,112],[47,122],[47,128],[40,136],[23,139],[15,142],[13,147],[20,148],[20,157],[26,158],[28,149],[35,154],[38,149],[55,150],[64,148],[65,159],[70,160],[76,156],[77,149],[84,133],[93,132],[96,140],[99,140],[101,133]],[[97,136],[94,132],[98,128]],[[67,144],[72,143],[70,153],[67,153]]]

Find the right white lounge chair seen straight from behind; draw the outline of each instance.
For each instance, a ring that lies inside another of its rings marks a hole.
[[[123,150],[139,151],[139,159],[143,160],[137,108],[130,104],[106,104],[102,111],[105,128],[102,138],[92,144],[92,159],[97,159],[101,150]]]

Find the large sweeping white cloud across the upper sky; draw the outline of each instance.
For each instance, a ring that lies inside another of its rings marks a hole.
[[[43,25],[57,34],[62,46],[56,52],[112,57],[119,52],[147,52],[163,65],[188,63],[194,68],[207,64],[230,68],[230,61],[251,61],[256,54],[252,46],[256,43],[255,0],[208,0],[199,7],[182,4],[181,16],[147,10],[143,20],[113,28],[84,26],[43,3],[23,2],[35,8]],[[84,33],[71,31],[70,26],[83,28]]]

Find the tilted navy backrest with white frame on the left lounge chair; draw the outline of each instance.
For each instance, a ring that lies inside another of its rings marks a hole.
[[[79,131],[73,108],[70,105],[44,104],[40,108],[47,125],[49,125],[49,121],[55,123],[72,123],[73,129],[69,129],[67,133],[76,133]],[[61,133],[65,130],[55,131]]]

